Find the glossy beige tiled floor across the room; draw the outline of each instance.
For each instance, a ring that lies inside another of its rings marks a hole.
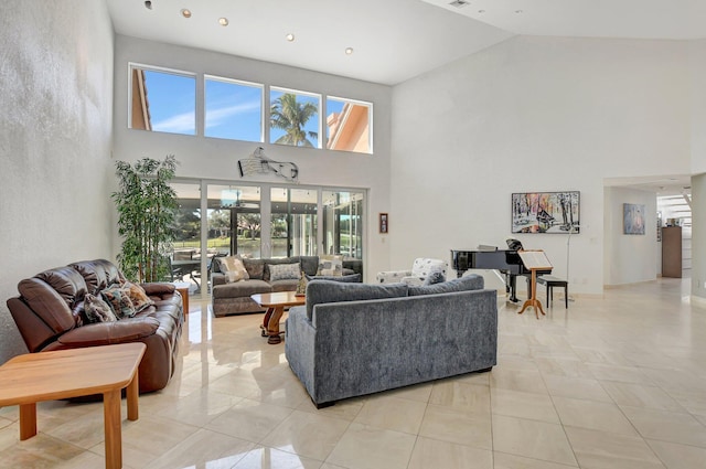
[[[317,411],[261,316],[192,301],[170,385],[122,422],[128,468],[567,469],[706,467],[706,310],[688,280],[500,305],[499,363]],[[544,291],[541,292],[543,295]],[[125,406],[125,403],[124,403]],[[124,408],[124,418],[126,411]],[[0,467],[101,468],[100,404],[44,403],[19,441],[0,409]]]

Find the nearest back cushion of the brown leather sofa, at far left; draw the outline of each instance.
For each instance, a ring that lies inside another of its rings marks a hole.
[[[86,283],[69,266],[44,270],[18,285],[28,306],[57,334],[81,323]]]

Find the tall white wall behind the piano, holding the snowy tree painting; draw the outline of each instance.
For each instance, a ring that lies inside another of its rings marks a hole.
[[[396,86],[392,264],[504,247],[511,193],[573,190],[571,290],[601,294],[603,178],[688,173],[688,84],[685,42],[517,36]],[[517,237],[566,275],[566,236]]]

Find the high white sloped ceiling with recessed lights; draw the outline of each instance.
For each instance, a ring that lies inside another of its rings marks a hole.
[[[515,34],[706,38],[704,0],[106,1],[119,34],[386,85]]]

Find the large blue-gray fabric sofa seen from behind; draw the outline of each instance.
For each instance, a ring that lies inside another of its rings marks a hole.
[[[313,403],[377,393],[496,363],[498,294],[467,275],[431,286],[314,280],[289,310],[285,354]]]

